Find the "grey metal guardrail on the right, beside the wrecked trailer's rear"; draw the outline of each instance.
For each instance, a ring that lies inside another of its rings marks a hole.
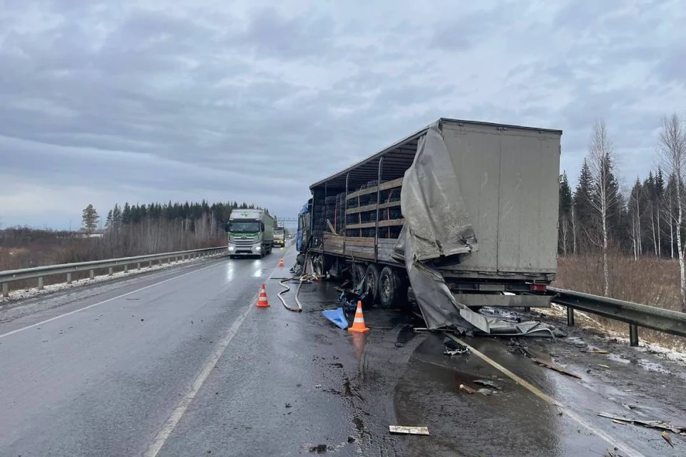
[[[686,337],[686,313],[557,287],[548,287],[547,293],[553,303],[567,306],[569,326],[574,325],[575,309],[628,323],[631,346],[638,346],[638,327]]]

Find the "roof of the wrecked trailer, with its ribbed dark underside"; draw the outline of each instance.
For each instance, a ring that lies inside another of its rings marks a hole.
[[[552,134],[562,135],[561,130],[554,129],[540,129],[537,127],[527,127],[527,126],[515,126],[509,124],[494,124],[492,122],[480,122],[480,121],[465,121],[461,119],[447,119],[441,118],[438,120],[439,125],[443,124],[458,124],[458,125],[479,125],[479,126],[493,126],[500,129],[522,129],[528,131],[542,131]],[[431,124],[429,124],[430,126]],[[326,186],[327,189],[344,190],[345,181],[348,179],[348,188],[357,189],[359,186],[367,184],[369,181],[374,181],[378,178],[378,167],[379,160],[383,159],[384,164],[382,166],[382,181],[388,181],[390,179],[396,179],[402,176],[405,170],[412,165],[414,161],[414,154],[417,153],[417,144],[419,139],[427,132],[429,126],[425,126],[422,129],[410,134],[403,139],[396,141],[394,144],[388,146],[382,151],[377,152],[372,156],[362,159],[362,161],[357,162],[347,169],[339,171],[336,174],[332,174],[328,178],[322,179],[312,184],[309,189],[321,189]],[[398,176],[400,175],[400,176]]]

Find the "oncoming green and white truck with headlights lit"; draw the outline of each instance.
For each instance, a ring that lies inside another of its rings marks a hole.
[[[259,256],[272,253],[274,218],[262,209],[235,209],[224,228],[229,234],[229,257]]]

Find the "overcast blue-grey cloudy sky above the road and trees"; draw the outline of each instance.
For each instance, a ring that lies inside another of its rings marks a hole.
[[[441,116],[562,129],[572,181],[603,117],[630,182],[686,114],[682,0],[430,4],[0,0],[0,224],[170,199],[294,216]]]

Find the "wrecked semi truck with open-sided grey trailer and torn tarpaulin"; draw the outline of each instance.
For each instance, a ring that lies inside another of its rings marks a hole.
[[[474,310],[550,306],[562,131],[439,119],[312,184],[298,246],[429,328],[526,333]]]

